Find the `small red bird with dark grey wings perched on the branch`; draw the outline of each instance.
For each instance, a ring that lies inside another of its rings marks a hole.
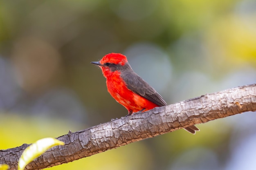
[[[167,105],[162,96],[132,70],[125,55],[110,53],[99,62],[91,63],[101,68],[108,92],[128,110],[128,115]],[[192,134],[199,131],[195,126],[184,129]]]

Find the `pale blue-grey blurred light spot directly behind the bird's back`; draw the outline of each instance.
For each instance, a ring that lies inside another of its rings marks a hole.
[[[132,69],[157,91],[166,93],[171,81],[172,66],[168,55],[155,44],[137,43],[124,54]]]

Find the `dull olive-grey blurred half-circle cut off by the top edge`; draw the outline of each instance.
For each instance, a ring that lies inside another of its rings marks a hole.
[[[158,2],[154,0],[109,0],[111,9],[126,20],[141,20],[152,14]]]

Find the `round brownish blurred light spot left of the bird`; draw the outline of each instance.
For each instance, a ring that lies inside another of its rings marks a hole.
[[[18,84],[29,93],[42,91],[52,85],[62,72],[58,51],[37,38],[26,37],[17,40],[11,59]]]

